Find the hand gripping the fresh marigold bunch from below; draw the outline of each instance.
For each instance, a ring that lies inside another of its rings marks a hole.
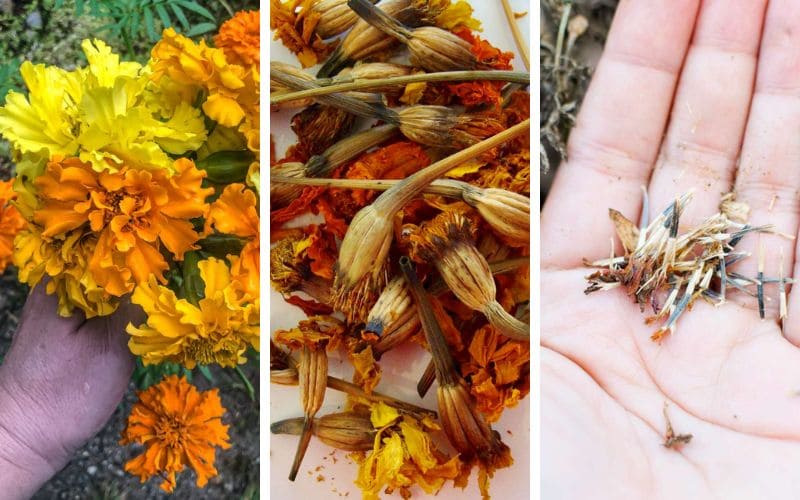
[[[125,326],[142,314],[57,316],[37,286],[0,365],[0,497],[28,498],[109,419],[133,371]],[[9,495],[9,496],[4,496]]]

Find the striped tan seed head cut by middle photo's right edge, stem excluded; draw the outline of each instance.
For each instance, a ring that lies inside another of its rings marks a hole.
[[[462,197],[509,246],[530,244],[530,198],[505,189],[474,187],[466,188]]]

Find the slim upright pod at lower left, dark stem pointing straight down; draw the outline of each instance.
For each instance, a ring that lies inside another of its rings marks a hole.
[[[289,480],[294,481],[300,464],[308,449],[311,441],[311,430],[314,415],[322,408],[325,400],[325,389],[328,385],[328,353],[324,346],[317,346],[311,349],[303,346],[300,351],[300,363],[298,366],[298,379],[300,383],[300,401],[303,405],[305,421],[303,422],[303,432],[300,434],[300,442],[297,444],[292,469],[289,472]]]

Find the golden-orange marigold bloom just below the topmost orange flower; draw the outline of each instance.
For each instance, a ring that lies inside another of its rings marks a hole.
[[[203,111],[225,127],[235,127],[252,113],[258,101],[257,70],[229,62],[222,49],[205,41],[195,44],[172,28],[151,51],[153,81],[166,75],[184,85],[198,86],[208,92]]]

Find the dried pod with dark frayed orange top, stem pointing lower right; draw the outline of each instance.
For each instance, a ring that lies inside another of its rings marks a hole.
[[[530,339],[530,327],[497,302],[489,264],[473,243],[473,229],[463,214],[442,212],[411,235],[412,252],[436,264],[450,290],[464,305],[481,311],[499,332],[514,340]]]

